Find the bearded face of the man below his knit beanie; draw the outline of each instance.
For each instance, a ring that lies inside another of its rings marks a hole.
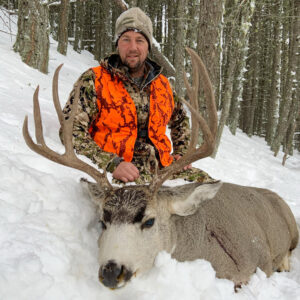
[[[119,55],[131,73],[141,71],[148,55],[147,39],[139,32],[127,31],[118,41]]]

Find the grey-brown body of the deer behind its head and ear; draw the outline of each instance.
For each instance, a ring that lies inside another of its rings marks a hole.
[[[179,261],[203,258],[216,275],[246,283],[256,268],[267,276],[281,268],[298,241],[295,219],[275,193],[223,183],[193,215],[172,217]]]

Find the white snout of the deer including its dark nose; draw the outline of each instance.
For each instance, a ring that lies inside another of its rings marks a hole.
[[[155,232],[142,230],[140,224],[108,224],[98,242],[99,280],[119,288],[133,275],[150,269],[160,250]]]

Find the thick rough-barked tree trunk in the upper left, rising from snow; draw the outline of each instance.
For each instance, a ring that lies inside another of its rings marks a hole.
[[[19,0],[18,34],[14,50],[27,65],[48,73],[49,13],[47,3]]]

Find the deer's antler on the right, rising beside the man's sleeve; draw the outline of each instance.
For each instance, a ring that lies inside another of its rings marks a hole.
[[[209,79],[208,72],[201,58],[197,53],[186,48],[187,52],[192,59],[192,73],[193,73],[193,85],[192,87],[188,83],[186,74],[184,73],[184,83],[187,89],[187,94],[190,99],[190,103],[184,101],[189,107],[192,115],[192,137],[187,153],[172,165],[163,168],[158,171],[157,176],[153,178],[149,188],[156,192],[159,187],[174,173],[183,169],[184,166],[197,161],[201,158],[211,155],[215,147],[215,139],[218,125],[217,109],[215,105],[215,97],[211,81]],[[203,80],[203,89],[206,98],[208,108],[208,123],[201,116],[198,109],[198,90],[199,90],[199,71],[201,73],[201,79]],[[196,149],[197,139],[199,135],[199,127],[203,133],[203,143]]]

